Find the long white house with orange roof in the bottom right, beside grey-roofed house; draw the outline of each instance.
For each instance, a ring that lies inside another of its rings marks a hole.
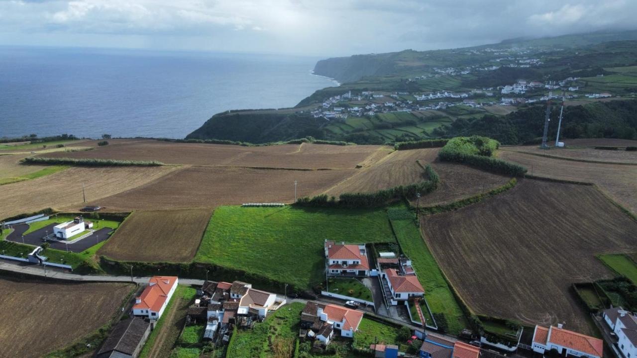
[[[585,334],[568,331],[559,324],[557,327],[535,326],[533,333],[534,352],[544,354],[550,350],[557,350],[560,355],[575,355],[576,357],[601,358],[604,343],[598,338]]]

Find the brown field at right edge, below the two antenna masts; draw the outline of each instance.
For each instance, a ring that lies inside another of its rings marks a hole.
[[[526,166],[536,176],[594,183],[613,200],[637,213],[637,165],[565,161],[508,151],[502,151],[499,157]]]

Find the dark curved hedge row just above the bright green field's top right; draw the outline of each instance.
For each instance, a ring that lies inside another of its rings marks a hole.
[[[414,197],[417,193],[422,195],[433,192],[438,187],[440,178],[438,173],[431,166],[425,167],[425,175],[429,180],[410,185],[398,185],[389,189],[382,189],[376,192],[354,192],[343,193],[336,197],[328,197],[321,194],[315,197],[301,197],[296,204],[299,206],[341,206],[345,208],[378,207],[385,206],[390,201],[401,197]]]

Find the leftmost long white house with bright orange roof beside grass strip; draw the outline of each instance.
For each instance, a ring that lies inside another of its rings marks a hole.
[[[159,319],[177,289],[177,282],[176,276],[151,277],[140,297],[136,297],[132,314],[153,320]]]

